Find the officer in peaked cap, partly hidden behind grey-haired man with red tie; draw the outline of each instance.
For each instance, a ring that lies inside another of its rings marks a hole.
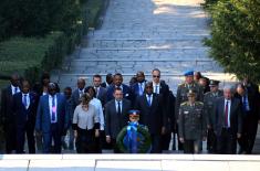
[[[219,81],[210,79],[209,82],[210,92],[204,96],[205,115],[207,117],[207,150],[209,153],[216,152],[217,141],[214,132],[215,116],[214,116],[214,104],[218,97],[223,96],[222,90],[219,89]]]

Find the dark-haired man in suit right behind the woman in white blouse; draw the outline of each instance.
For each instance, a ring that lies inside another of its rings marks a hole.
[[[96,98],[101,100],[102,107],[106,104],[106,88],[101,86],[102,77],[96,74],[93,76],[93,85],[96,93]]]

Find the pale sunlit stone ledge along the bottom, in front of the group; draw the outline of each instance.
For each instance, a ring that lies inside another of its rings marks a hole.
[[[210,154],[0,156],[0,171],[259,171],[260,157]]]

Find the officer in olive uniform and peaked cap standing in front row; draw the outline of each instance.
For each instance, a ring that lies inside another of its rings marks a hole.
[[[196,101],[196,93],[190,89],[188,101],[179,107],[179,141],[184,143],[185,153],[199,153],[201,140],[206,140],[206,118],[204,103]]]

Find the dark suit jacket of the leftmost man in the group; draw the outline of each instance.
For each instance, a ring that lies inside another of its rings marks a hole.
[[[12,110],[12,88],[11,85],[7,88],[2,89],[1,93],[1,121],[4,122],[4,125],[14,124],[14,115]]]

